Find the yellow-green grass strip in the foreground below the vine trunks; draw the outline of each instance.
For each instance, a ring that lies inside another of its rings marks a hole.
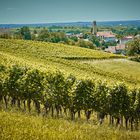
[[[0,140],[140,140],[140,132],[1,111]]]

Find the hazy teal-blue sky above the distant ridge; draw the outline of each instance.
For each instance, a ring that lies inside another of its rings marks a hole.
[[[140,19],[140,0],[0,0],[0,24]]]

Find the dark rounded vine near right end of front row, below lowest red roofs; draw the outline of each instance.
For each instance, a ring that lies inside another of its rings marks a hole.
[[[116,126],[123,124],[123,117],[128,116],[130,110],[130,100],[127,87],[123,84],[116,84],[110,90],[109,114],[117,119]]]

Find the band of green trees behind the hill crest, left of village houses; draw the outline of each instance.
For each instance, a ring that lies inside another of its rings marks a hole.
[[[62,31],[51,31],[43,28],[39,31],[33,30],[30,31],[29,27],[22,27],[21,29],[15,32],[15,38],[24,39],[24,40],[37,40],[45,41],[52,43],[64,43],[68,45],[77,45],[84,48],[94,49],[94,41],[84,41],[83,39],[78,39],[77,36],[67,37],[65,32]]]

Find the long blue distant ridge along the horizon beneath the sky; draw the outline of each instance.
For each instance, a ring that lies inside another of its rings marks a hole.
[[[20,28],[23,26],[29,27],[51,27],[51,26],[85,26],[89,27],[92,22],[66,22],[66,23],[36,23],[36,24],[0,24],[0,28]],[[100,26],[135,26],[140,27],[140,20],[128,21],[100,21],[97,22]]]

